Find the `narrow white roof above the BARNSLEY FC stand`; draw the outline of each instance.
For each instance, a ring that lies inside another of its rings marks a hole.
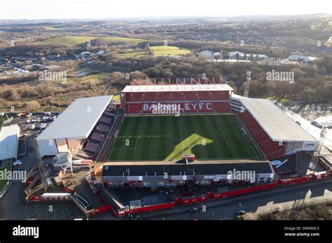
[[[125,89],[123,89],[123,93],[161,91],[234,91],[234,89],[228,84],[127,85]]]

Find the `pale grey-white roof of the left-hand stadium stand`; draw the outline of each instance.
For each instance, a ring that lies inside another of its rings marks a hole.
[[[113,96],[78,98],[62,112],[37,140],[88,138]]]

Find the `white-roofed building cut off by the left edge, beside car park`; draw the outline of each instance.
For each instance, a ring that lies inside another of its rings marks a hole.
[[[20,127],[15,124],[3,126],[0,133],[0,160],[18,158]]]

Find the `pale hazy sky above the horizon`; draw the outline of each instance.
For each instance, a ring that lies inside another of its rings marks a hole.
[[[0,20],[332,14],[332,0],[0,0]]]

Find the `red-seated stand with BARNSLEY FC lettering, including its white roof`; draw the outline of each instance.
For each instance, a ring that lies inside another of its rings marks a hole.
[[[230,112],[227,84],[126,86],[122,92],[125,114],[151,114],[153,105],[180,105],[181,113]],[[171,114],[171,113],[160,113]]]

